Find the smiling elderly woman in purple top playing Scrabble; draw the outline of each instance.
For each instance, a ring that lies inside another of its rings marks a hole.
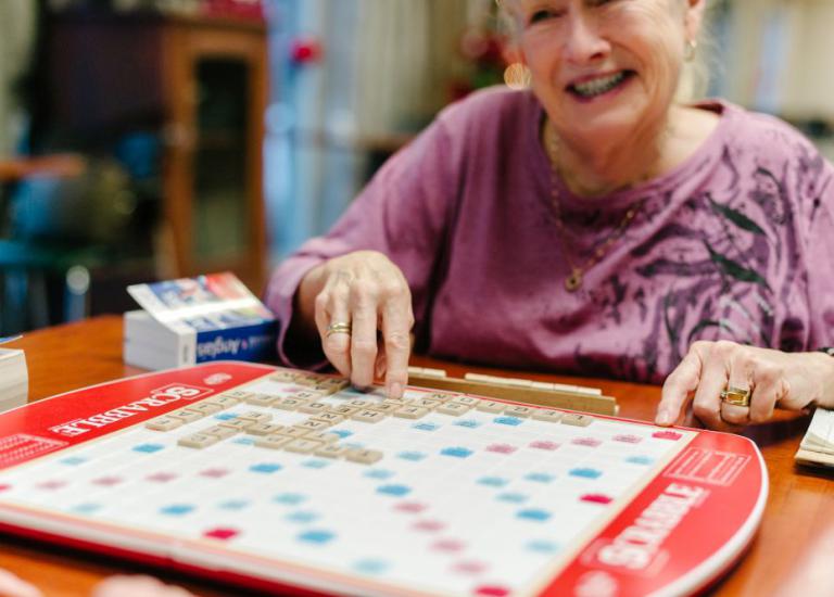
[[[531,89],[446,109],[278,268],[282,358],[399,396],[414,325],[443,358],[666,379],[660,424],[834,406],[834,169],[675,101],[704,3],[505,0]]]

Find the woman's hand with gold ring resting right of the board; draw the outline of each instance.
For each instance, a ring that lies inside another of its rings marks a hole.
[[[749,406],[721,398],[725,390],[749,392]],[[834,407],[834,358],[823,353],[783,353],[735,342],[698,341],[664,383],[655,422],[691,424],[692,416],[709,429],[737,431],[761,423],[775,407],[801,410]]]

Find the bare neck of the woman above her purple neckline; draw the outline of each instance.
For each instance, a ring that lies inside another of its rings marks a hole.
[[[559,137],[549,119],[543,142],[551,164],[579,196],[601,196],[661,176],[706,140],[718,117],[703,110],[672,106],[666,122],[621,138],[583,143]]]

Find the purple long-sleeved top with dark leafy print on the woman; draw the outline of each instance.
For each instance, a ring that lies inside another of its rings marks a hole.
[[[281,357],[303,275],[359,249],[403,269],[417,348],[443,358],[660,382],[698,339],[834,344],[834,168],[775,118],[700,106],[718,127],[665,176],[593,200],[557,181],[561,239],[535,98],[491,89],[447,107],[276,270]],[[567,292],[564,252],[586,263],[635,204]]]

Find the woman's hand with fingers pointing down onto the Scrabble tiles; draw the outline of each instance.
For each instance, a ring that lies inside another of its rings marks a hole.
[[[384,377],[388,396],[403,395],[414,314],[408,283],[391,259],[376,251],[329,259],[307,272],[296,301],[340,373],[357,388]]]

